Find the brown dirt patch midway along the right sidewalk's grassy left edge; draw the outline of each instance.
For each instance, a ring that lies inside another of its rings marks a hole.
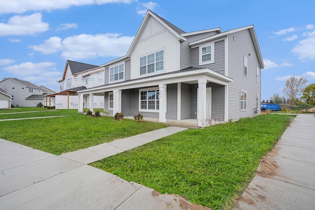
[[[274,157],[278,154],[278,150],[280,149],[276,144],[276,146],[269,152],[264,155],[260,160],[260,169],[256,171],[256,175],[264,178],[271,178],[273,176],[278,175],[277,169],[279,166],[277,163],[270,159],[270,157]]]

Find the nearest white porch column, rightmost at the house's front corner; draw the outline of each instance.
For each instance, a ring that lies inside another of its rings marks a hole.
[[[198,127],[206,127],[207,124],[207,80],[198,80],[197,118]]]

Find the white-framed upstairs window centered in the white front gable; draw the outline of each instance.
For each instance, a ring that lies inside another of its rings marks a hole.
[[[159,53],[163,53],[163,58],[161,59]],[[153,58],[152,58],[153,56]],[[157,60],[159,59],[159,60]],[[149,63],[150,60],[150,63]],[[158,64],[162,63],[162,65],[158,66]],[[154,70],[148,73],[148,69],[150,67],[154,67]],[[157,70],[157,67],[163,66],[162,69]],[[141,67],[145,67],[145,73],[141,74]],[[139,75],[144,76],[148,74],[153,74],[157,72],[161,72],[165,70],[165,50],[160,49],[158,51],[154,51],[145,55],[139,56]]]

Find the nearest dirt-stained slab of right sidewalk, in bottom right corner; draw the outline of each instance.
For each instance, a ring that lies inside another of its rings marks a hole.
[[[233,210],[314,210],[315,189],[255,176]]]

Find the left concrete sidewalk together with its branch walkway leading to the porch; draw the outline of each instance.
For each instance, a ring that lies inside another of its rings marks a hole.
[[[0,209],[206,209],[85,164],[185,129],[162,128],[61,156],[0,139]]]

